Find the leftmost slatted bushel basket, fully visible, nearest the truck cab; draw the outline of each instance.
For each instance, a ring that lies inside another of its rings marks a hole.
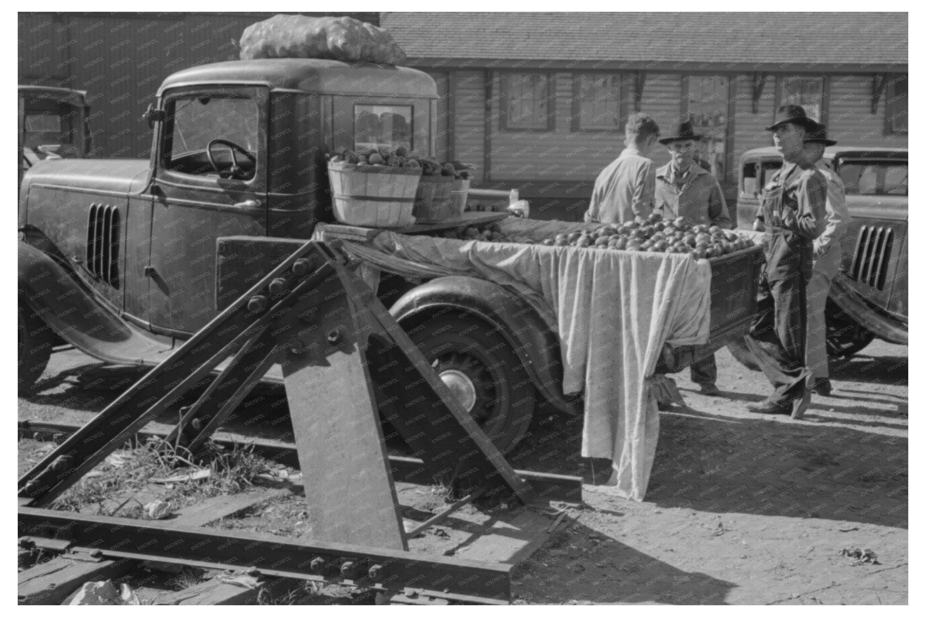
[[[415,223],[413,208],[419,167],[359,167],[329,163],[334,217],[359,227],[405,227]]]

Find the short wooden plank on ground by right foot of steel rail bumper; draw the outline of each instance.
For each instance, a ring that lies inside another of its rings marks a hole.
[[[556,537],[559,524],[552,531],[547,529],[554,523],[548,517],[532,508],[525,508],[510,522],[497,521],[491,533],[477,537],[468,546],[457,549],[456,557],[473,561],[497,561],[516,563],[529,559],[544,544]]]

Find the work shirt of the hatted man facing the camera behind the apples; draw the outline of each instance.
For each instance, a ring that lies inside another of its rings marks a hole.
[[[684,216],[689,225],[731,228],[720,182],[699,165],[692,164],[683,174],[671,163],[656,170],[656,209],[666,220]]]

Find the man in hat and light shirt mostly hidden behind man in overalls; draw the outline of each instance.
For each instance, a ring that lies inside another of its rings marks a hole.
[[[826,352],[826,299],[832,279],[839,274],[843,260],[841,242],[852,217],[845,205],[843,180],[823,162],[823,150],[836,142],[827,139],[826,125],[818,123],[804,140],[807,160],[820,169],[826,179],[826,228],[813,241],[813,276],[807,283],[807,368],[813,373],[813,389],[829,396],[830,364]]]

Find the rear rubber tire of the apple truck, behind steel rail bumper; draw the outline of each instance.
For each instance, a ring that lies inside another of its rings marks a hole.
[[[531,424],[537,390],[507,340],[482,320],[461,315],[442,315],[412,329],[411,339],[429,363],[444,357],[438,373],[454,352],[476,361],[471,366],[467,361],[464,372],[471,379],[483,376],[473,379],[482,384],[473,412],[482,407],[483,413],[482,417],[471,414],[503,454],[518,445]],[[491,381],[484,378],[486,374]]]

